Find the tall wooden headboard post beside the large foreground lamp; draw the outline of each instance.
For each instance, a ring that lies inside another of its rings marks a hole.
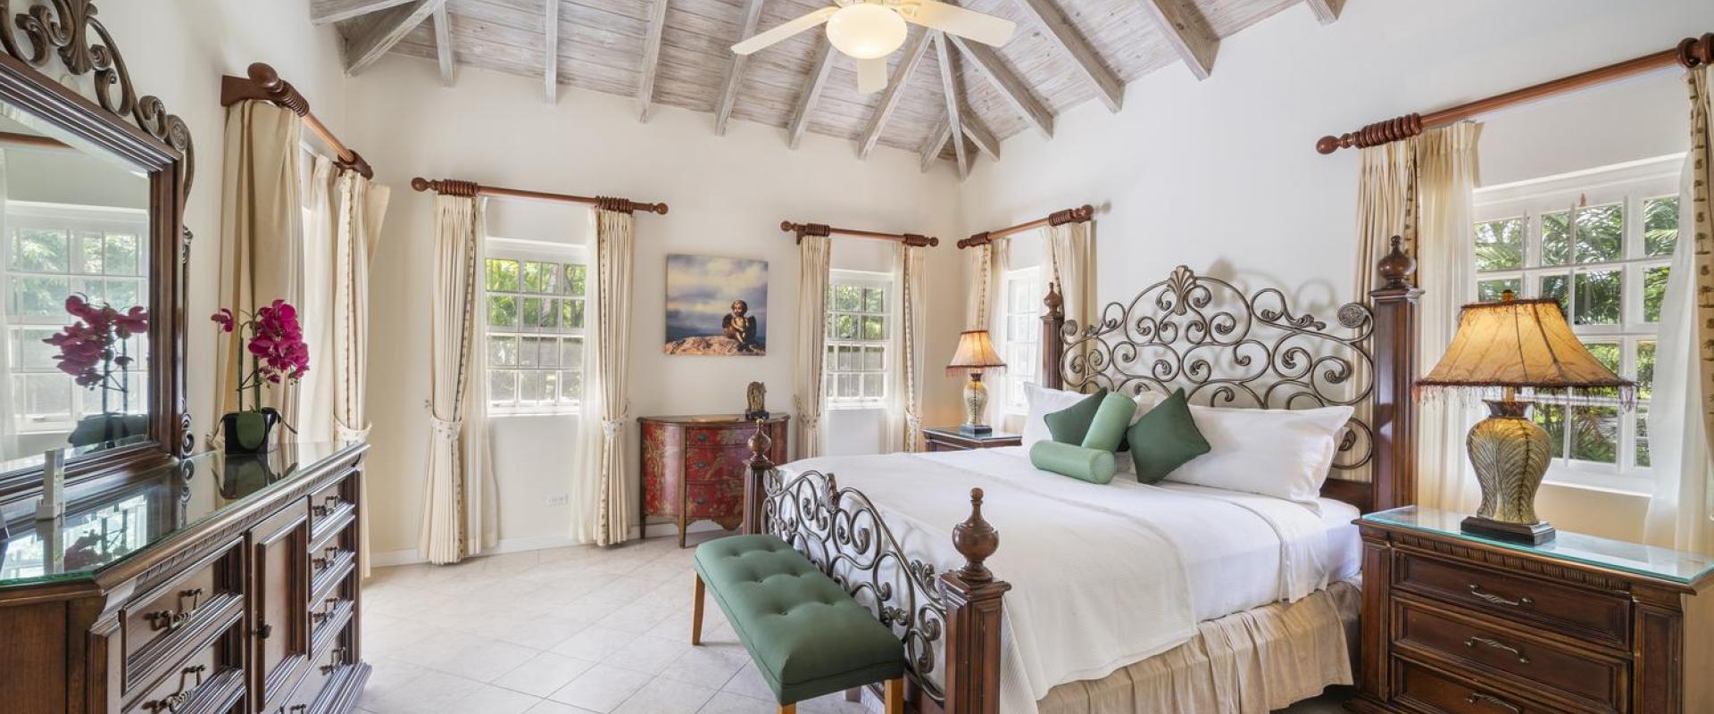
[[[1375,510],[1416,503],[1416,341],[1421,289],[1411,284],[1416,260],[1399,236],[1376,265],[1381,286],[1369,291],[1375,305]]]

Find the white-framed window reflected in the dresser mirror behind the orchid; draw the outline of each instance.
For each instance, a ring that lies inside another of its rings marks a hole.
[[[147,411],[147,336],[117,346],[130,366],[115,366],[125,390],[84,389],[60,372],[58,348],[43,344],[72,317],[65,298],[81,293],[120,312],[147,306],[147,212],[96,205],[7,202],[5,339],[21,433],[67,431],[86,414]]]

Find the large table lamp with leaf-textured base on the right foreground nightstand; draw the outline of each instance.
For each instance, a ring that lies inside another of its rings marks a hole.
[[[1512,291],[1500,301],[1465,305],[1447,354],[1416,384],[1479,392],[1501,389],[1500,399],[1484,399],[1489,416],[1471,426],[1465,440],[1483,505],[1462,527],[1531,544],[1553,539],[1553,526],[1536,517],[1536,490],[1553,454],[1548,431],[1529,419],[1529,402],[1517,401],[1517,389],[1582,394],[1620,389],[1627,396],[1635,389],[1589,354],[1556,300],[1515,300]],[[1630,402],[1621,399],[1627,408]]]

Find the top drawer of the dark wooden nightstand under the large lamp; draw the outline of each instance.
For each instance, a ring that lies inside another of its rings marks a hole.
[[[1443,598],[1460,608],[1594,644],[1630,647],[1630,601],[1618,596],[1416,553],[1399,558],[1393,579],[1400,591]]]

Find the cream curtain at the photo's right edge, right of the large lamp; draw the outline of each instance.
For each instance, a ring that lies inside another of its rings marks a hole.
[[[1714,553],[1714,306],[1697,295],[1714,291],[1714,68],[1693,68],[1690,87],[1690,152],[1678,197],[1678,248],[1661,305],[1661,341],[1649,406],[1649,442],[1656,471],[1645,538],[1652,544]]]

